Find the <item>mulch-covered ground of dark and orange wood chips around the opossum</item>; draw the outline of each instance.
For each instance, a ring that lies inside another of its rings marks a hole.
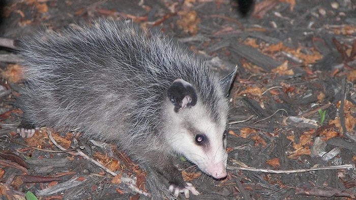
[[[228,177],[215,181],[181,160],[179,169],[201,192],[191,199],[355,198],[355,2],[260,0],[246,17],[228,0],[0,3],[3,38],[126,18],[178,39],[221,76],[239,65],[230,94]],[[21,66],[10,49],[0,56],[1,199],[23,199],[27,191],[41,199],[146,198],[131,187],[144,191],[145,173],[124,152],[49,129],[20,138],[14,97]],[[58,153],[48,132],[64,149],[84,146],[82,155]]]

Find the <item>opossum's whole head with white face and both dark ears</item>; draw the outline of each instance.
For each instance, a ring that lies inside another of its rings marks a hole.
[[[216,179],[227,175],[228,102],[225,97],[236,70],[220,82],[206,86],[213,87],[212,90],[198,90],[191,83],[177,79],[167,92],[171,124],[166,140],[174,151],[183,154],[201,171]]]

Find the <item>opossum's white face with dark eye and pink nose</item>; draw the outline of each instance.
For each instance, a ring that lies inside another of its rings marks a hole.
[[[171,147],[204,173],[226,177],[226,123],[214,122],[199,103],[180,112],[171,110],[172,132],[166,135]]]

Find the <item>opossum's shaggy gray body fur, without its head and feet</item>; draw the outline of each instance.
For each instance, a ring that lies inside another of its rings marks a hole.
[[[28,83],[18,104],[34,126],[79,128],[87,138],[116,143],[143,166],[176,176],[175,150],[163,137],[170,123],[167,88],[176,79],[189,82],[217,123],[226,120],[227,100],[204,61],[160,34],[120,26],[100,20],[20,43]]]

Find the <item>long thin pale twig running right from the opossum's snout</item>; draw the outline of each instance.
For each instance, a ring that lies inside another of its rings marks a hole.
[[[344,165],[334,165],[334,166],[325,166],[322,168],[311,168],[311,169],[301,169],[301,170],[268,170],[268,169],[256,169],[256,168],[243,168],[237,166],[227,166],[228,170],[242,170],[250,172],[262,172],[262,173],[271,173],[271,174],[290,174],[290,173],[303,173],[311,172],[318,170],[341,170],[341,169],[355,169],[353,164],[344,164]]]

